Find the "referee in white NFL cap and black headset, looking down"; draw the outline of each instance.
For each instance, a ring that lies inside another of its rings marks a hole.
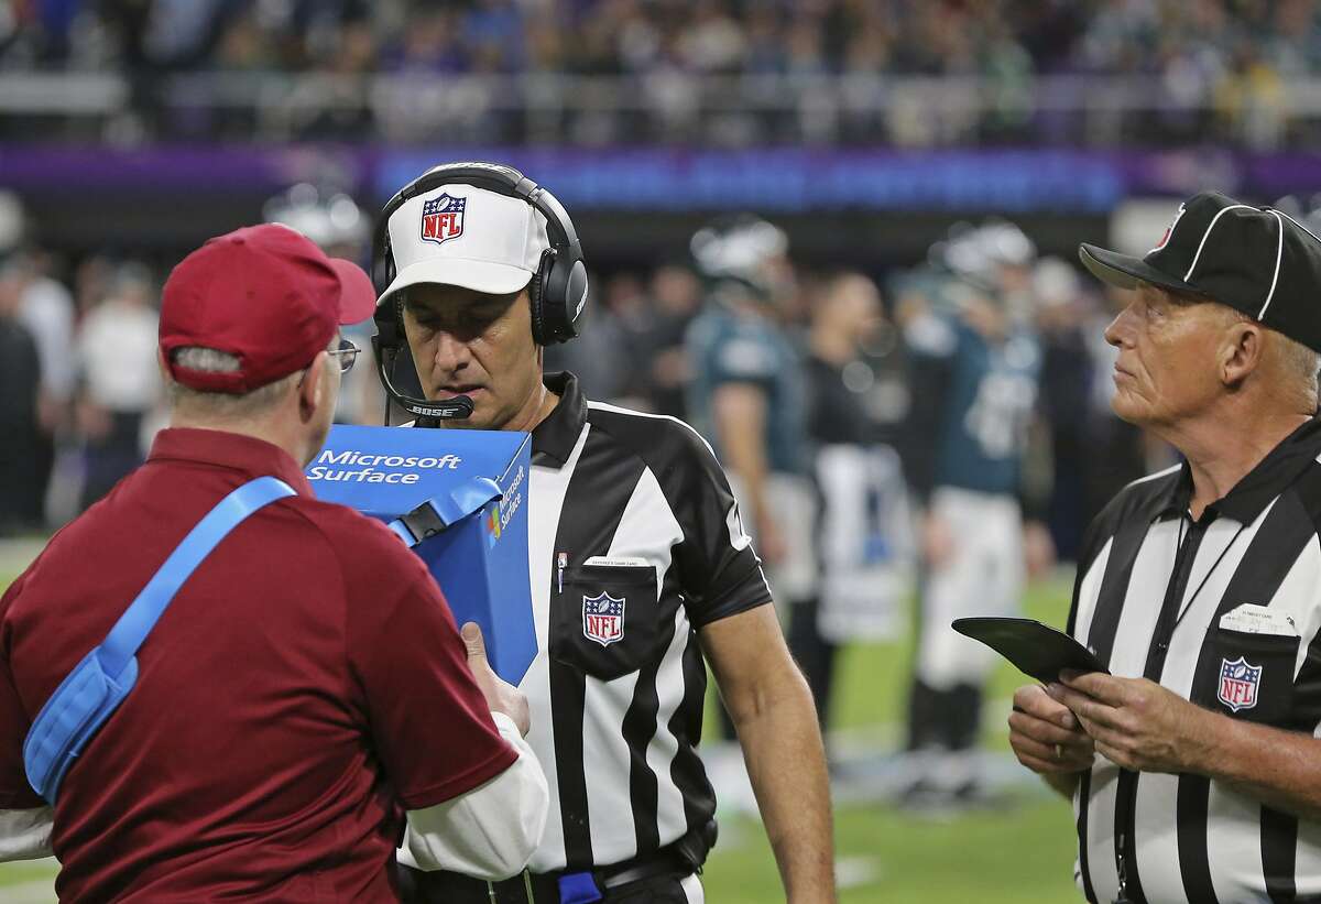
[[[382,371],[392,383],[406,342],[425,396],[396,400],[413,414],[470,406],[420,427],[532,435],[539,649],[519,687],[551,817],[523,876],[415,874],[415,900],[701,901],[716,835],[696,749],[708,662],[787,899],[834,900],[815,710],[715,456],[679,420],[589,402],[571,374],[543,378],[543,348],[577,333],[587,293],[564,209],[517,170],[450,164],[386,205],[376,241]]]

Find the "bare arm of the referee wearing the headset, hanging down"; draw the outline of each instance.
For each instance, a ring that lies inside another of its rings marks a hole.
[[[742,745],[790,904],[835,900],[830,781],[816,707],[773,605],[704,625],[699,637]]]

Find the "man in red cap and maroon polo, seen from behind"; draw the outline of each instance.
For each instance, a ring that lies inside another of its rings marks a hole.
[[[390,901],[406,825],[429,868],[503,878],[535,847],[526,700],[421,562],[303,477],[357,352],[338,324],[374,304],[358,267],[284,226],[189,255],[161,307],[170,430],[0,597],[0,860],[54,852],[61,900]],[[184,584],[52,811],[24,773],[32,719],[202,515],[263,474],[297,494]]]

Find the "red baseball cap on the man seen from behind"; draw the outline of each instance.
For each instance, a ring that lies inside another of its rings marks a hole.
[[[288,226],[248,226],[210,239],[170,272],[160,349],[185,386],[250,393],[306,367],[339,324],[366,320],[375,305],[371,279],[358,264],[328,258]],[[181,367],[172,353],[185,346],[232,354],[239,369]]]

